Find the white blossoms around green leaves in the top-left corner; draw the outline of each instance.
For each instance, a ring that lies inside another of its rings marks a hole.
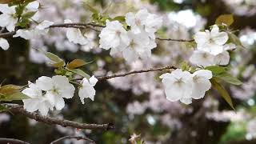
[[[33,13],[33,16],[30,18],[30,20],[37,21],[38,7],[38,1],[30,2],[22,11],[22,15]],[[2,12],[2,14],[0,14],[0,26],[3,28],[6,27],[6,30],[10,32],[15,30],[15,26],[18,23],[18,15],[16,13],[16,8],[17,6],[8,6],[8,4],[0,4],[0,11]],[[9,43],[6,41],[5,38],[0,38],[0,47],[3,50],[9,49]]]

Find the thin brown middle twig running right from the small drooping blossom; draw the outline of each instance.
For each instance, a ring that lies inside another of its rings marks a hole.
[[[138,74],[138,73],[146,73],[146,72],[150,72],[150,71],[161,71],[161,70],[168,70],[168,69],[177,69],[177,67],[175,66],[164,66],[164,67],[159,67],[159,68],[150,68],[147,70],[133,70],[127,73],[123,73],[123,74],[112,74],[112,75],[107,75],[107,76],[98,76],[96,77],[99,81],[102,80],[106,80],[106,79],[110,79],[110,78],[117,78],[117,77],[125,77],[126,75],[130,75],[130,74]],[[72,79],[73,81],[78,81],[78,80],[82,80],[82,78],[74,78]]]

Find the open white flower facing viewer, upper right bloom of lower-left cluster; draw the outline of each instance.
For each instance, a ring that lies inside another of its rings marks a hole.
[[[62,110],[65,106],[63,98],[74,96],[74,86],[62,75],[56,75],[53,78],[42,76],[36,80],[36,85],[39,89],[46,91],[46,98],[57,110]]]

